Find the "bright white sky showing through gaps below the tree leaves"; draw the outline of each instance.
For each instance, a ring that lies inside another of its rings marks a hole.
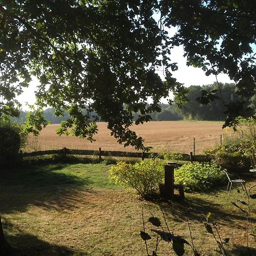
[[[184,50],[182,46],[175,47],[171,51],[171,59],[174,62],[177,62],[179,69],[173,73],[173,76],[177,79],[177,81],[183,83],[185,86],[190,85],[207,85],[213,84],[216,82],[216,77],[214,75],[205,76],[204,71],[201,68],[193,68],[187,66],[187,59],[183,57]],[[162,74],[159,72],[159,75]],[[218,82],[233,82],[229,79],[228,75],[220,74],[217,76]],[[30,86],[28,88],[24,88],[24,92],[17,97],[18,101],[22,104],[23,110],[29,110],[28,104],[35,103],[35,94],[36,86],[38,85],[38,80],[34,77],[30,82]],[[171,97],[171,96],[170,96]],[[163,99],[163,103],[167,103],[167,100]]]

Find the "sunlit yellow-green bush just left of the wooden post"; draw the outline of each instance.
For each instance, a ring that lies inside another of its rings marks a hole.
[[[110,180],[125,187],[135,188],[144,199],[150,199],[159,192],[159,183],[164,180],[164,163],[159,159],[144,160],[127,164],[118,162],[110,168]]]

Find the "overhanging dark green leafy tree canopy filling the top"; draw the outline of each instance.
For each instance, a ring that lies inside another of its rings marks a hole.
[[[236,115],[250,114],[243,104],[256,92],[255,10],[253,0],[2,0],[0,114],[19,114],[15,97],[36,76],[31,130],[45,124],[40,110],[48,105],[70,115],[60,134],[73,127],[92,140],[100,116],[120,143],[144,149],[130,130],[133,113],[139,113],[135,123],[143,123],[170,92],[185,100],[170,55],[183,45],[188,65],[236,82],[241,101],[227,106],[226,125],[232,125]],[[170,27],[177,28],[174,35]],[[212,98],[204,94],[204,102]]]

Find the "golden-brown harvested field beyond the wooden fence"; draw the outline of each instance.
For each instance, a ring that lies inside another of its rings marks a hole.
[[[193,151],[193,138],[196,139],[196,154],[202,154],[206,148],[220,144],[220,136],[232,133],[222,129],[222,122],[184,122],[162,121],[148,122],[133,126],[137,135],[144,138],[145,145],[151,146],[152,152],[176,151],[189,153]],[[123,147],[117,139],[110,136],[106,123],[98,123],[98,134],[95,142],[66,135],[56,135],[59,125],[48,125],[38,138],[30,137],[26,151],[49,150],[57,148],[73,148],[98,150],[135,151],[133,147]]]

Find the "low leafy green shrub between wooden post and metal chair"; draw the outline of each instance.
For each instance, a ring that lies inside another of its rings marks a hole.
[[[185,191],[205,191],[225,181],[225,173],[216,164],[188,163],[174,172],[175,183],[183,184]]]

